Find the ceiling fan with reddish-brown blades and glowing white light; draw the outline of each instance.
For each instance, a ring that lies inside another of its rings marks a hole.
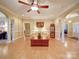
[[[32,10],[32,11],[37,11],[37,13],[40,14],[39,8],[49,8],[48,5],[39,5],[38,0],[32,0],[31,4],[24,2],[22,0],[19,0],[18,2],[22,3],[24,5],[31,6],[31,8],[29,10],[27,10],[27,12],[30,12]]]

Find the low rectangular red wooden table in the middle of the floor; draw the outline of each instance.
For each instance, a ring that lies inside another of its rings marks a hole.
[[[49,40],[48,39],[31,39],[31,46],[48,47]]]

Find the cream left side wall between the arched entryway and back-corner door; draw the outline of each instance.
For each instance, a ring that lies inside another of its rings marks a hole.
[[[15,37],[15,39],[23,37],[22,19],[14,18],[14,37]]]

